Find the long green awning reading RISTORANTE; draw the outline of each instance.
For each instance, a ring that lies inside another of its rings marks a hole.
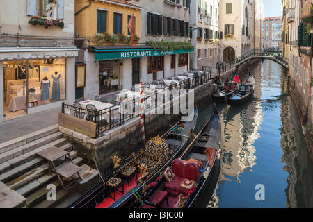
[[[174,55],[182,53],[193,52],[193,49],[188,50],[171,50],[171,51],[161,51],[154,49],[93,49],[95,52],[96,60],[114,60],[121,58],[136,58],[145,56],[165,56]]]

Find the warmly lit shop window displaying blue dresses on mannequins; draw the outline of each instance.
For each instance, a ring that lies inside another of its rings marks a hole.
[[[10,61],[3,65],[7,117],[13,112],[66,99],[65,58]]]

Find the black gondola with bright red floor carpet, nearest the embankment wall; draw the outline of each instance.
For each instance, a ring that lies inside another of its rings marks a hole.
[[[68,208],[115,208],[125,205],[129,199],[133,198],[133,191],[140,190],[143,187],[143,182],[145,180],[149,180],[149,178],[153,177],[154,174],[163,167],[164,164],[170,162],[177,158],[182,152],[185,150],[186,145],[189,142],[191,135],[193,134],[193,129],[195,128],[198,117],[198,110],[194,108],[193,119],[191,121],[186,121],[184,117],[179,123],[172,126],[170,130],[168,130],[165,134],[161,136],[161,139],[165,140],[165,143],[168,145],[170,152],[165,155],[157,165],[147,173],[142,178],[141,173],[135,173],[132,178],[127,178],[127,180],[122,180],[120,185],[116,187],[114,191],[114,195],[116,191],[120,191],[122,194],[118,193],[116,196],[111,196],[112,189],[108,187],[108,180],[110,178],[121,178],[121,174],[130,167],[136,166],[139,168],[138,162],[143,160],[145,157],[145,152],[143,150],[139,151],[137,154],[133,155],[131,160],[127,160],[124,164],[121,164],[120,167],[109,167],[106,169],[105,177],[103,182],[99,182],[93,188],[88,190],[83,196],[81,196],[78,200],[74,201]],[[109,172],[109,174],[107,173]],[[137,180],[137,178],[139,178]],[[129,183],[129,181],[132,181]]]

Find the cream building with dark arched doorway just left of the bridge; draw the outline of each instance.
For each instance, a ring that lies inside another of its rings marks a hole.
[[[250,0],[220,0],[220,45],[223,62],[234,61],[236,57],[252,49],[252,8]]]

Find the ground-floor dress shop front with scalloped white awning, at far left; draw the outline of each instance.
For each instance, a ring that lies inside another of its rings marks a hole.
[[[0,123],[74,101],[74,56],[77,49],[1,49]]]

